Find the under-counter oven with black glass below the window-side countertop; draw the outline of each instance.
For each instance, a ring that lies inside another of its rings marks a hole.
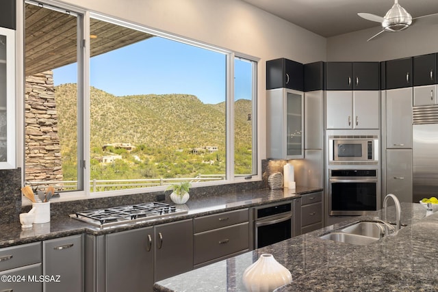
[[[254,208],[254,246],[262,248],[292,237],[294,202]]]

